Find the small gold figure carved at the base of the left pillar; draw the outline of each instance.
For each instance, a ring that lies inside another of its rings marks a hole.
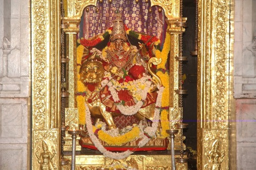
[[[52,148],[53,153],[49,151],[47,143],[42,140],[42,152],[39,155],[39,151],[35,152],[36,157],[38,159],[38,163],[40,163],[40,170],[51,170],[52,168],[56,169],[53,164],[53,157],[56,155],[54,148]]]

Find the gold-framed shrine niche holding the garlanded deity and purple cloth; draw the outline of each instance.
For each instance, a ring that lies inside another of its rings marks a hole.
[[[63,17],[68,50],[65,54],[61,45],[61,70],[67,70],[61,75],[62,98],[68,98],[68,104],[62,103],[62,108],[66,107],[62,125],[81,131],[76,150],[83,154],[100,151],[106,158],[126,159],[137,151],[167,154],[172,147],[185,149],[182,128],[186,125],[182,124],[180,100],[184,92],[181,63],[185,57],[179,44],[186,18],[168,19],[170,13],[164,11],[175,4],[80,3],[76,4],[80,18]],[[68,7],[63,2],[62,14],[65,9]],[[174,27],[176,22],[179,27]],[[75,50],[75,55],[65,57],[70,50]],[[65,127],[63,130],[68,130]],[[166,130],[176,127],[180,137],[171,146]],[[71,151],[68,133],[62,133],[62,140],[63,151]]]

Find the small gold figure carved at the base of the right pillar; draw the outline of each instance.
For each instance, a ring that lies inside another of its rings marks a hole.
[[[205,168],[209,170],[221,170],[221,163],[224,156],[225,152],[223,150],[220,151],[219,140],[216,139],[214,142],[212,142],[211,150],[207,152],[209,161],[205,165]]]

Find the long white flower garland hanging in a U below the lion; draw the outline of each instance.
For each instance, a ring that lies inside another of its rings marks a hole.
[[[157,102],[156,102],[156,108],[155,108],[152,127],[146,127],[144,129],[144,132],[147,133],[147,135],[150,136],[150,137],[153,137],[155,135],[156,131],[157,131],[157,127],[158,127],[158,123],[159,123],[159,116],[160,116],[160,108],[157,108],[157,107],[159,107],[159,103],[161,105],[162,92],[163,92],[163,87],[159,87],[158,99],[157,99]],[[109,157],[109,158],[112,158],[112,159],[123,159],[123,158],[126,158],[126,157],[130,156],[131,154],[133,154],[133,152],[130,151],[130,150],[127,150],[125,152],[120,152],[120,153],[114,153],[114,152],[106,150],[103,147],[103,145],[100,143],[99,139],[93,133],[93,125],[92,125],[92,121],[91,121],[91,112],[90,112],[87,104],[85,104],[85,106],[86,106],[86,127],[87,127],[87,130],[88,130],[89,136],[90,136],[91,140],[93,141],[95,147],[105,157]],[[140,129],[142,129],[142,128],[140,128]],[[148,136],[146,136],[144,134],[142,135],[142,140],[139,141],[138,147],[140,147],[140,148],[143,147],[148,142],[148,140],[150,140],[150,138]]]

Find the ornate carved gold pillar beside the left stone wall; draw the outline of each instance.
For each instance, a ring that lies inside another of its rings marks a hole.
[[[59,169],[59,36],[59,1],[32,0],[32,169]]]

